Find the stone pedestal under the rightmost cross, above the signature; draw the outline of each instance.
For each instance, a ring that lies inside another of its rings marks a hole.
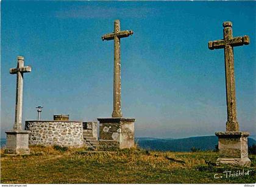
[[[251,165],[247,143],[249,132],[216,132],[215,135],[219,138],[217,164]]]

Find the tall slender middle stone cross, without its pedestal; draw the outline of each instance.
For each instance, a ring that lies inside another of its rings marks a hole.
[[[121,58],[120,39],[132,35],[132,30],[121,30],[120,21],[115,20],[114,32],[103,35],[102,41],[114,40],[114,83],[113,83],[113,113],[112,118],[122,118],[121,111]]]

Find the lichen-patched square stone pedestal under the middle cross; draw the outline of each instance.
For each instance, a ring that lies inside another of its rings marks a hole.
[[[134,146],[134,122],[131,118],[98,118],[99,144],[119,149]]]

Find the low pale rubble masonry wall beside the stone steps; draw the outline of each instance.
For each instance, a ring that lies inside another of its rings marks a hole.
[[[26,121],[25,130],[30,130],[30,145],[74,147],[84,145],[82,122]]]

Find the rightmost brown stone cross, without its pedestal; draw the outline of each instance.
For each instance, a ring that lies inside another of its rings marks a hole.
[[[227,131],[239,131],[239,124],[236,119],[236,98],[235,98],[235,73],[234,73],[234,57],[233,47],[249,44],[249,37],[233,37],[232,23],[226,21],[223,23],[223,40],[215,40],[208,42],[209,49],[224,48],[225,70],[226,70],[226,99],[227,99]]]

